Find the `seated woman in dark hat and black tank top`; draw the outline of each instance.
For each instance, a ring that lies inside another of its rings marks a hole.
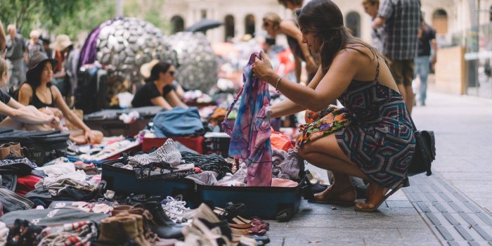
[[[49,59],[44,53],[36,53],[29,59],[27,82],[20,86],[19,102],[24,105],[33,105],[47,115],[63,117],[82,130],[70,131],[70,141],[77,144],[101,143],[101,131],[92,131],[82,119],[77,117],[63,100],[60,90],[51,86],[53,66],[57,60]],[[62,127],[58,125],[57,129]]]

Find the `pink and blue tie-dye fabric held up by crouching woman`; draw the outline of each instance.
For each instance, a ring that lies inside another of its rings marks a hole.
[[[239,157],[247,164],[247,186],[271,186],[271,129],[270,117],[266,115],[270,93],[266,82],[253,77],[255,57],[259,54],[253,53],[245,66],[243,87],[227,113],[242,94],[234,127],[231,130],[227,116],[222,126],[231,136],[229,155]]]

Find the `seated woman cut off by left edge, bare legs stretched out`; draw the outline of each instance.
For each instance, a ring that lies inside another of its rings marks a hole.
[[[0,57],[0,88],[5,86],[8,75],[6,60]],[[46,115],[37,108],[25,106],[0,90],[0,127],[15,130],[45,131],[60,124],[55,115]]]

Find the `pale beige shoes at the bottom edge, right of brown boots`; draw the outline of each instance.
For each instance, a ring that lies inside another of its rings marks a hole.
[[[227,221],[221,221],[204,203],[196,210],[190,226],[183,228],[183,234],[184,242],[176,242],[176,246],[233,245],[233,235]]]

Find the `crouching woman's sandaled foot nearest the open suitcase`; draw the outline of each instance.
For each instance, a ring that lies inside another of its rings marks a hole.
[[[356,190],[354,186],[335,186],[333,183],[328,186],[326,190],[321,193],[314,194],[314,199],[311,202],[321,202],[328,204],[339,204],[339,205],[354,205],[354,200],[356,200]]]

